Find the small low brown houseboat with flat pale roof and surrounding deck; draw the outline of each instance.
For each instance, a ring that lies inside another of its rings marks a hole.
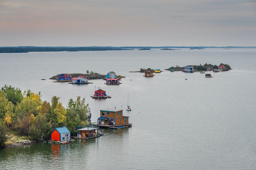
[[[103,133],[98,132],[99,127],[97,125],[82,125],[77,126],[77,137],[73,137],[74,139],[91,139],[91,138],[98,138]]]

